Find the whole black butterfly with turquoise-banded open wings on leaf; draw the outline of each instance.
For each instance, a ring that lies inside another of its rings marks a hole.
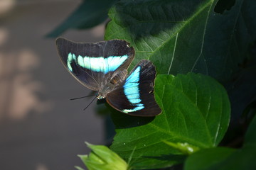
[[[98,99],[106,98],[110,106],[128,115],[161,113],[154,98],[156,69],[149,60],[142,60],[127,75],[135,52],[125,40],[85,43],[57,38],[56,46],[68,72],[97,91]]]

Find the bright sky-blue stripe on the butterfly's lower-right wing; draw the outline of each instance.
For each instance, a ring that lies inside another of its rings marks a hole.
[[[132,72],[132,74],[127,77],[124,83],[124,94],[127,97],[128,101],[132,103],[132,106],[135,106],[132,109],[124,109],[122,110],[124,113],[139,111],[144,108],[144,105],[141,103],[142,100],[139,98],[139,72],[141,67],[137,67],[137,69]]]

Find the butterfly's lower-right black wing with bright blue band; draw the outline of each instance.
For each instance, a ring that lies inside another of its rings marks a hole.
[[[129,115],[159,115],[161,108],[154,98],[155,77],[154,65],[149,60],[142,60],[122,84],[107,94],[107,102],[117,111]]]

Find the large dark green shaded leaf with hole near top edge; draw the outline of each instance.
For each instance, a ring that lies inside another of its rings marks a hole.
[[[217,1],[119,1],[105,39],[130,42],[133,66],[148,59],[159,74],[200,72],[226,81],[256,37],[256,1],[235,1],[223,14],[214,11]]]

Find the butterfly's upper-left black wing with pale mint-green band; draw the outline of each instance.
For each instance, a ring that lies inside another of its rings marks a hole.
[[[133,47],[124,40],[84,43],[57,38],[56,45],[68,71],[94,91],[105,86],[114,72],[127,69],[134,59]]]

